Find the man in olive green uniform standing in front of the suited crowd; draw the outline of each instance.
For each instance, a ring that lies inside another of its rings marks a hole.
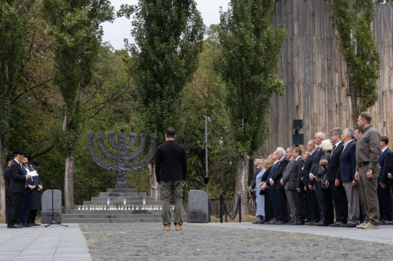
[[[381,134],[371,125],[370,114],[359,116],[357,124],[363,134],[356,143],[356,173],[363,198],[366,218],[365,222],[356,226],[359,229],[379,229],[379,202],[376,193],[376,182],[379,176],[378,158],[381,152]]]

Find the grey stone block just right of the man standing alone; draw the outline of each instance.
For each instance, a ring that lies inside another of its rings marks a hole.
[[[188,223],[208,223],[209,198],[203,190],[188,192]]]

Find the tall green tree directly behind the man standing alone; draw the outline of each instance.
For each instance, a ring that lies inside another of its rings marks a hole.
[[[140,0],[132,22],[135,43],[130,72],[140,96],[146,132],[164,141],[166,127],[177,127],[179,95],[192,81],[203,46],[204,25],[191,0]],[[159,198],[150,164],[150,196]]]

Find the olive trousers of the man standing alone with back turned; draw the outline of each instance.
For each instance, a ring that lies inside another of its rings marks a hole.
[[[183,225],[183,181],[161,182],[161,200],[163,201],[163,225],[170,224],[170,198],[173,195],[174,201],[174,224]]]

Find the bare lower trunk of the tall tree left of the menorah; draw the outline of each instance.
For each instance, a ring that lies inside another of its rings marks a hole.
[[[64,174],[64,205],[66,209],[74,209],[74,163],[75,148],[66,158],[66,171]]]

